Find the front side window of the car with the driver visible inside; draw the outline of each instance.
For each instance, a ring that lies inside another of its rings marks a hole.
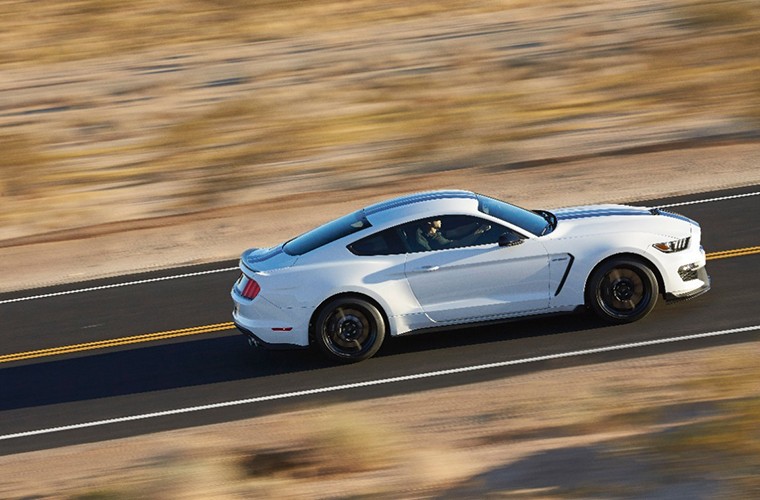
[[[442,215],[400,227],[410,252],[495,244],[508,228],[470,215]]]

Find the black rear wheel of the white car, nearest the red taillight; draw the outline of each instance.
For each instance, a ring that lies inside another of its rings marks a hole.
[[[357,297],[340,297],[317,316],[314,338],[330,359],[352,363],[372,357],[385,338],[385,321],[377,308]]]

